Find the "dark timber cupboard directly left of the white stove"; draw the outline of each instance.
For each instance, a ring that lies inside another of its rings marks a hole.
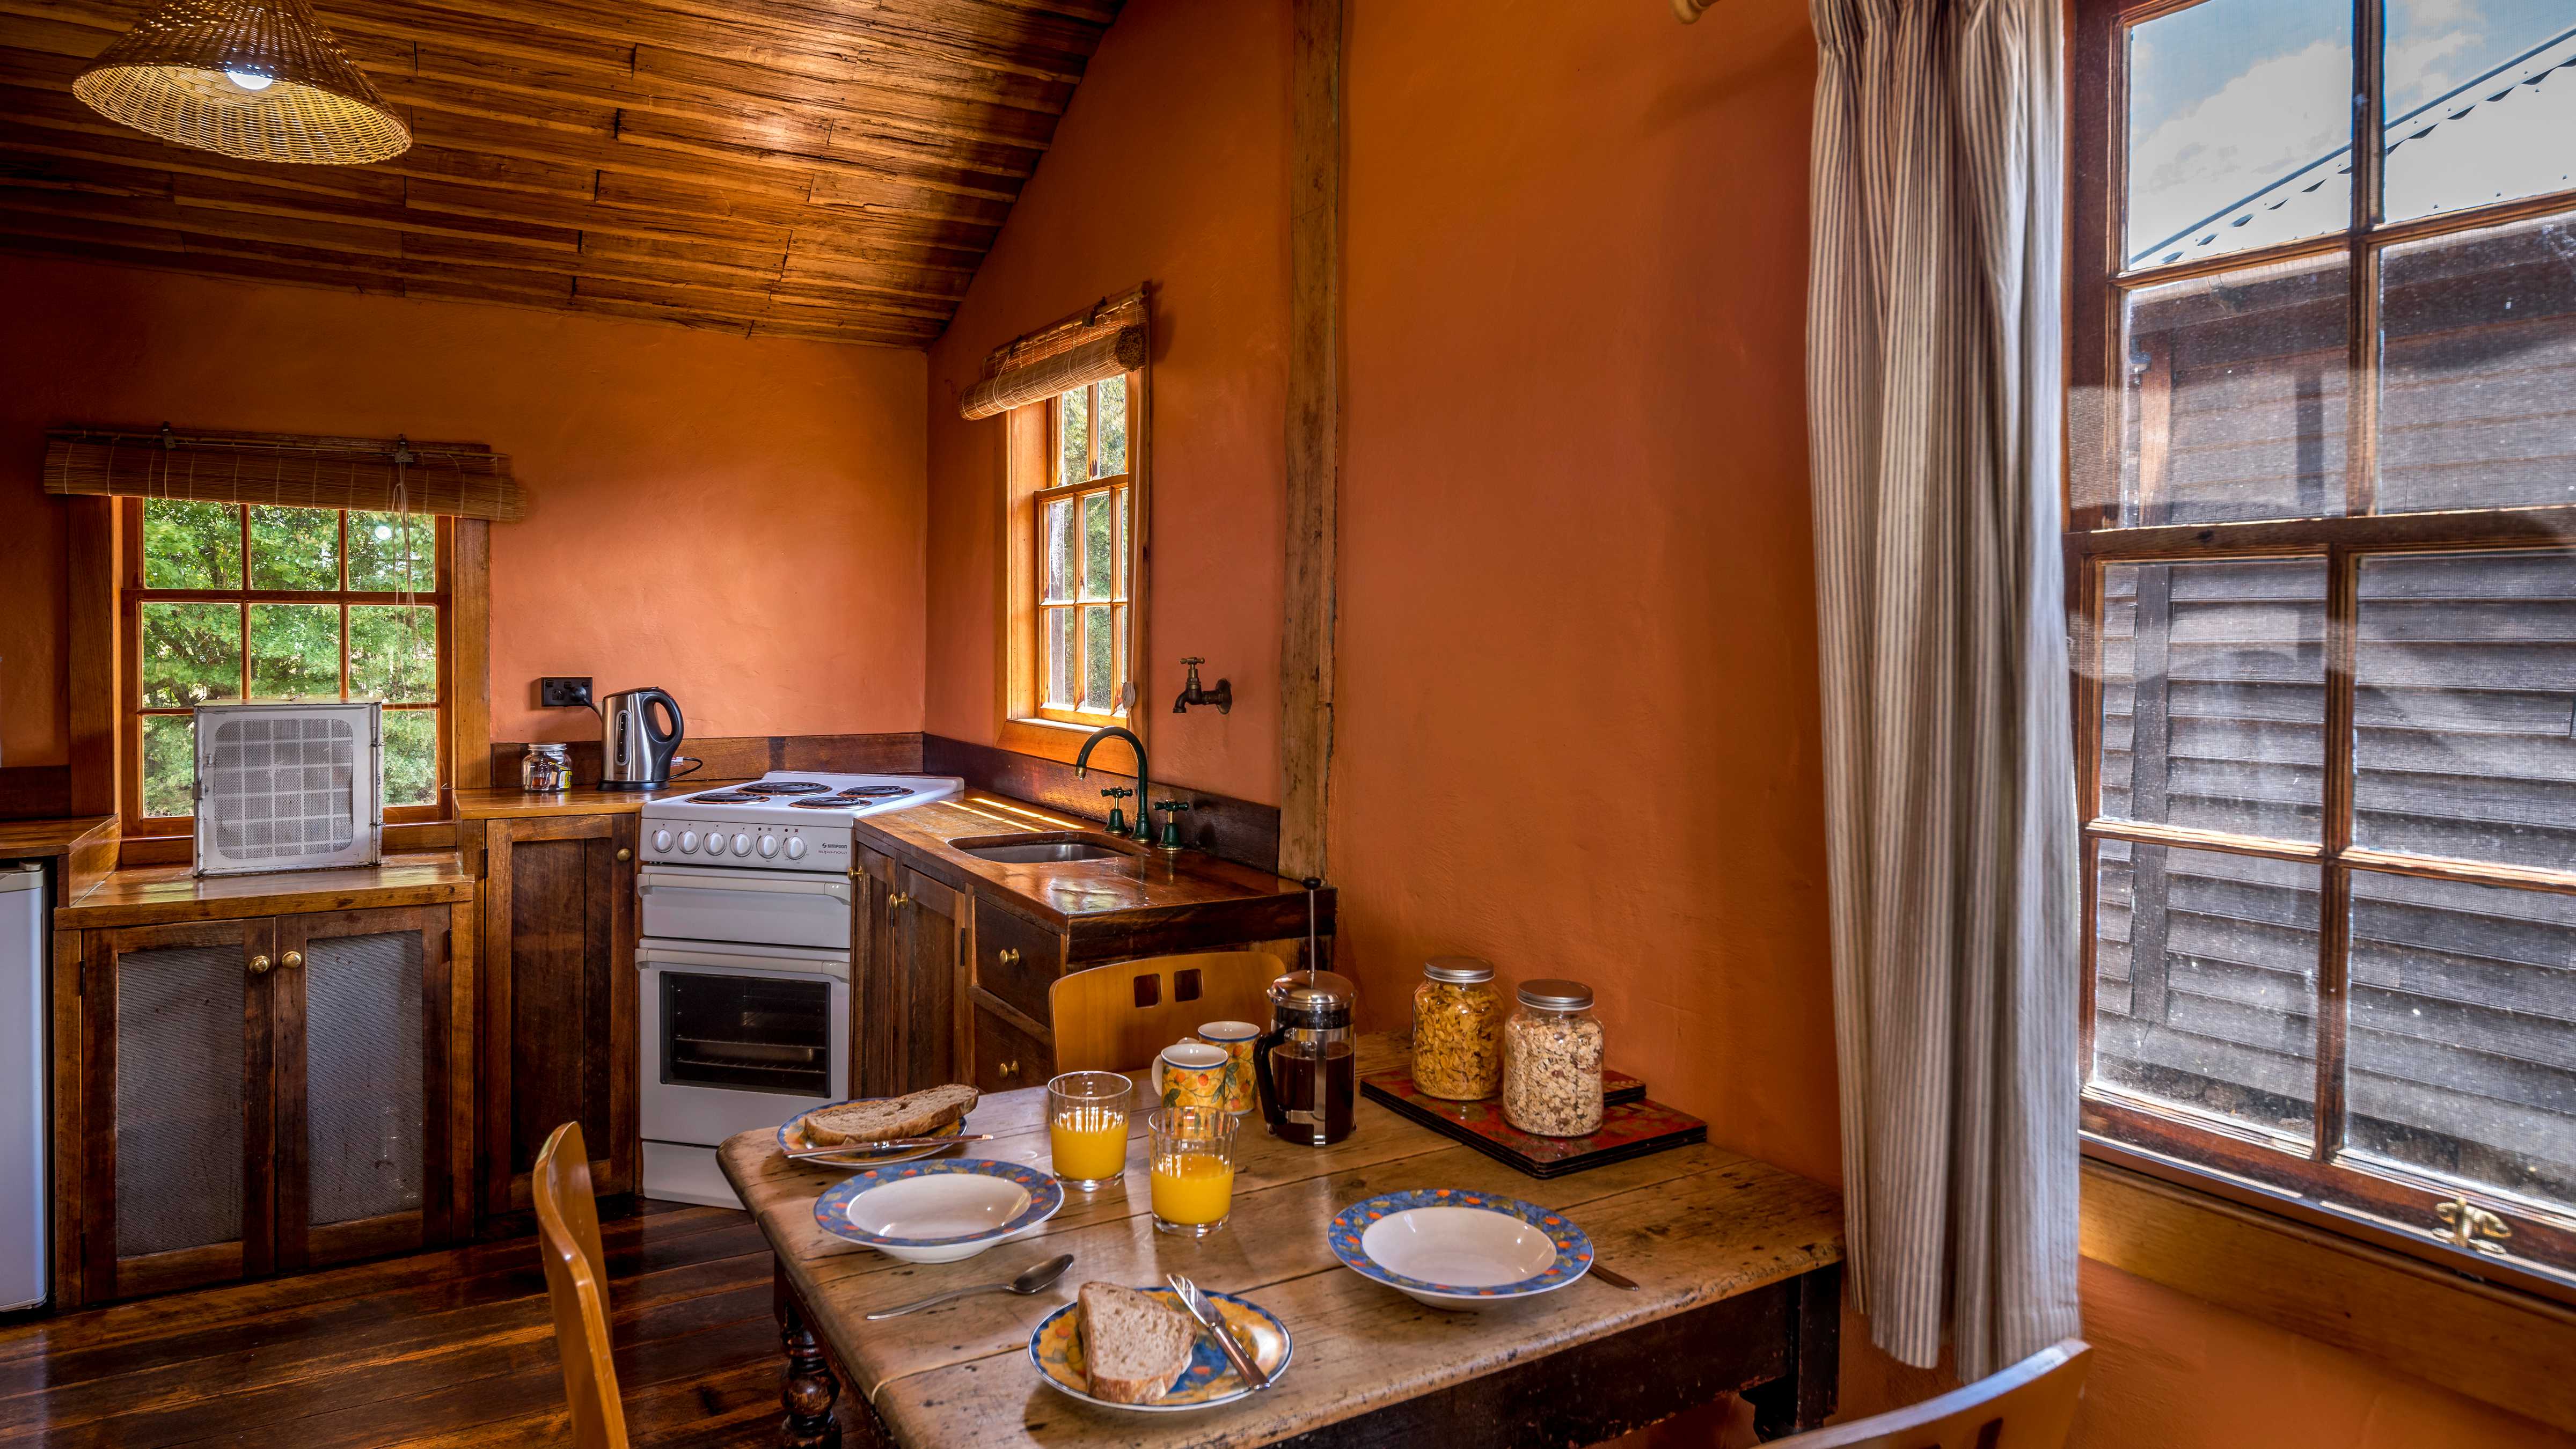
[[[459,822],[482,892],[482,1212],[528,1209],[546,1134],[580,1122],[592,1191],[641,1181],[636,812]]]

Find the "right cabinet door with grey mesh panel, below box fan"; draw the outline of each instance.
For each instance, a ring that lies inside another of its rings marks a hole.
[[[278,1266],[438,1243],[461,1217],[451,908],[276,923]]]

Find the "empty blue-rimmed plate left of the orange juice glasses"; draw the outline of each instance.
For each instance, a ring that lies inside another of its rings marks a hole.
[[[992,1158],[866,1168],[814,1199],[814,1225],[907,1263],[956,1263],[1064,1207],[1054,1173]]]

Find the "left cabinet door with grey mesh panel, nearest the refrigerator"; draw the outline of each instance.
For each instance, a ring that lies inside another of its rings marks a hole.
[[[88,933],[80,1297],[273,1266],[273,964],[268,920]]]

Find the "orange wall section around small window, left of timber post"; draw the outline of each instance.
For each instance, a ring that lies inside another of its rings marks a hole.
[[[992,740],[997,717],[1002,423],[961,420],[956,394],[997,343],[1151,281],[1154,773],[1278,799],[1285,57],[1285,0],[1128,5],[930,351],[933,732]],[[1234,681],[1231,714],[1170,712],[1182,655]]]

